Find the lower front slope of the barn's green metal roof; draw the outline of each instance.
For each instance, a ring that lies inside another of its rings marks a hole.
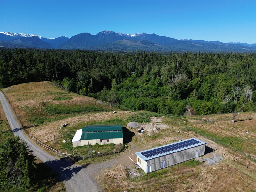
[[[82,133],[81,140],[123,138],[123,131]]]

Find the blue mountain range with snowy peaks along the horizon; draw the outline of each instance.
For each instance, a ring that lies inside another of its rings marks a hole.
[[[80,33],[71,38],[44,38],[39,35],[0,32],[0,47],[38,49],[86,49],[156,52],[256,52],[256,43],[222,43],[220,41],[174,39],[154,33],[123,34],[101,31],[96,35]]]

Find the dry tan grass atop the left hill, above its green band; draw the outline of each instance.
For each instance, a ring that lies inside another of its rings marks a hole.
[[[3,90],[24,123],[33,115],[46,116],[44,104],[63,104],[93,106],[108,109],[108,105],[92,97],[85,97],[65,91],[49,81],[14,85]],[[60,97],[72,97],[71,100],[54,100]],[[42,103],[43,102],[43,103]]]

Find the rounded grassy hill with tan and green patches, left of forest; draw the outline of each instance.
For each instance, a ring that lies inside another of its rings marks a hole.
[[[109,110],[101,101],[65,91],[48,81],[14,85],[3,92],[27,126],[77,113]]]

